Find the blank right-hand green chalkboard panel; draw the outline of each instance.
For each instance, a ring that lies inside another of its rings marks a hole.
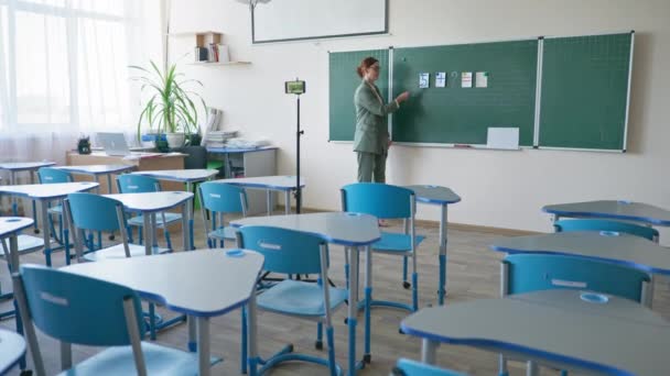
[[[633,33],[547,38],[540,146],[626,148]]]

